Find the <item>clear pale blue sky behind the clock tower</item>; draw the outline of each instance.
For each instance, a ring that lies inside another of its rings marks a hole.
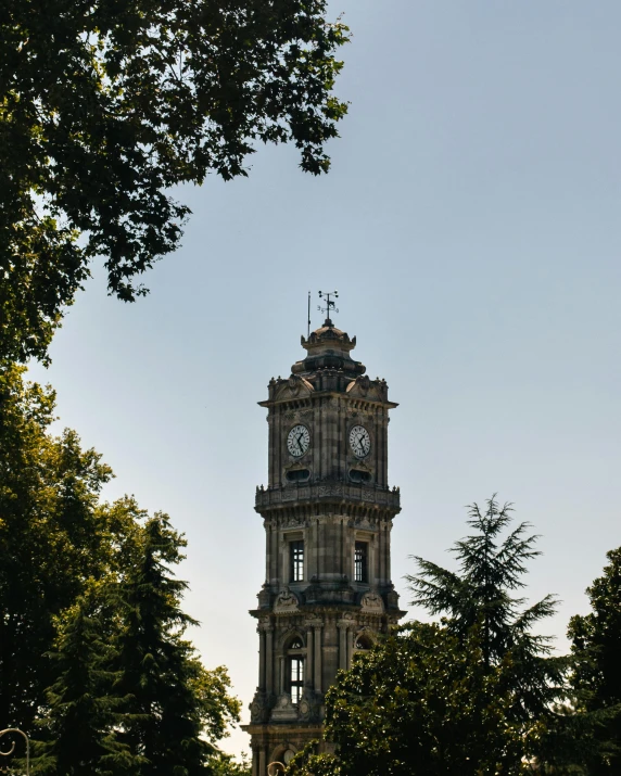
[[[561,650],[621,544],[621,4],[334,0],[340,11],[351,110],[329,176],[262,148],[249,179],[180,189],[193,216],[145,278],[150,296],[109,298],[97,270],[52,367],[33,369],[115,470],[106,497],[132,493],[186,533],[192,636],[208,666],[228,665],[246,720],[248,610],[264,580],[256,402],[303,354],[308,290],[339,289],[354,357],[400,403],[405,608],[408,555],[449,564],[464,506],[493,492],[542,534],[528,594],[562,599],[547,625]],[[227,746],[248,750],[246,736]]]

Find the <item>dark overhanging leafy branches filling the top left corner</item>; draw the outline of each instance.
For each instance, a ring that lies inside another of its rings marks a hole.
[[[328,169],[346,28],[327,0],[5,0],[0,10],[0,360],[46,358],[103,256],[111,293],[175,250],[172,186],[245,175],[255,144]]]

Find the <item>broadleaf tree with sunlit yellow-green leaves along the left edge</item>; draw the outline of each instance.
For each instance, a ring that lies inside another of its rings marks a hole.
[[[54,436],[54,393],[0,371],[0,723],[31,729],[53,682],[54,616],[100,577],[127,514],[99,505],[112,476],[77,434]]]

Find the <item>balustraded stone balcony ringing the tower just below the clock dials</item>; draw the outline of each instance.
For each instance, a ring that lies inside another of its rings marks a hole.
[[[289,507],[293,504],[359,504],[368,507],[381,507],[401,511],[401,493],[398,487],[383,487],[365,483],[337,481],[320,481],[291,483],[276,487],[263,485],[256,488],[254,508],[257,512],[278,507]]]

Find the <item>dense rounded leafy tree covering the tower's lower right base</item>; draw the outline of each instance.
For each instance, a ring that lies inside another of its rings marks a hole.
[[[296,776],[479,776],[529,773],[536,723],[510,720],[509,659],[486,669],[480,634],[413,623],[389,635],[326,696],[333,754],[299,754]]]

